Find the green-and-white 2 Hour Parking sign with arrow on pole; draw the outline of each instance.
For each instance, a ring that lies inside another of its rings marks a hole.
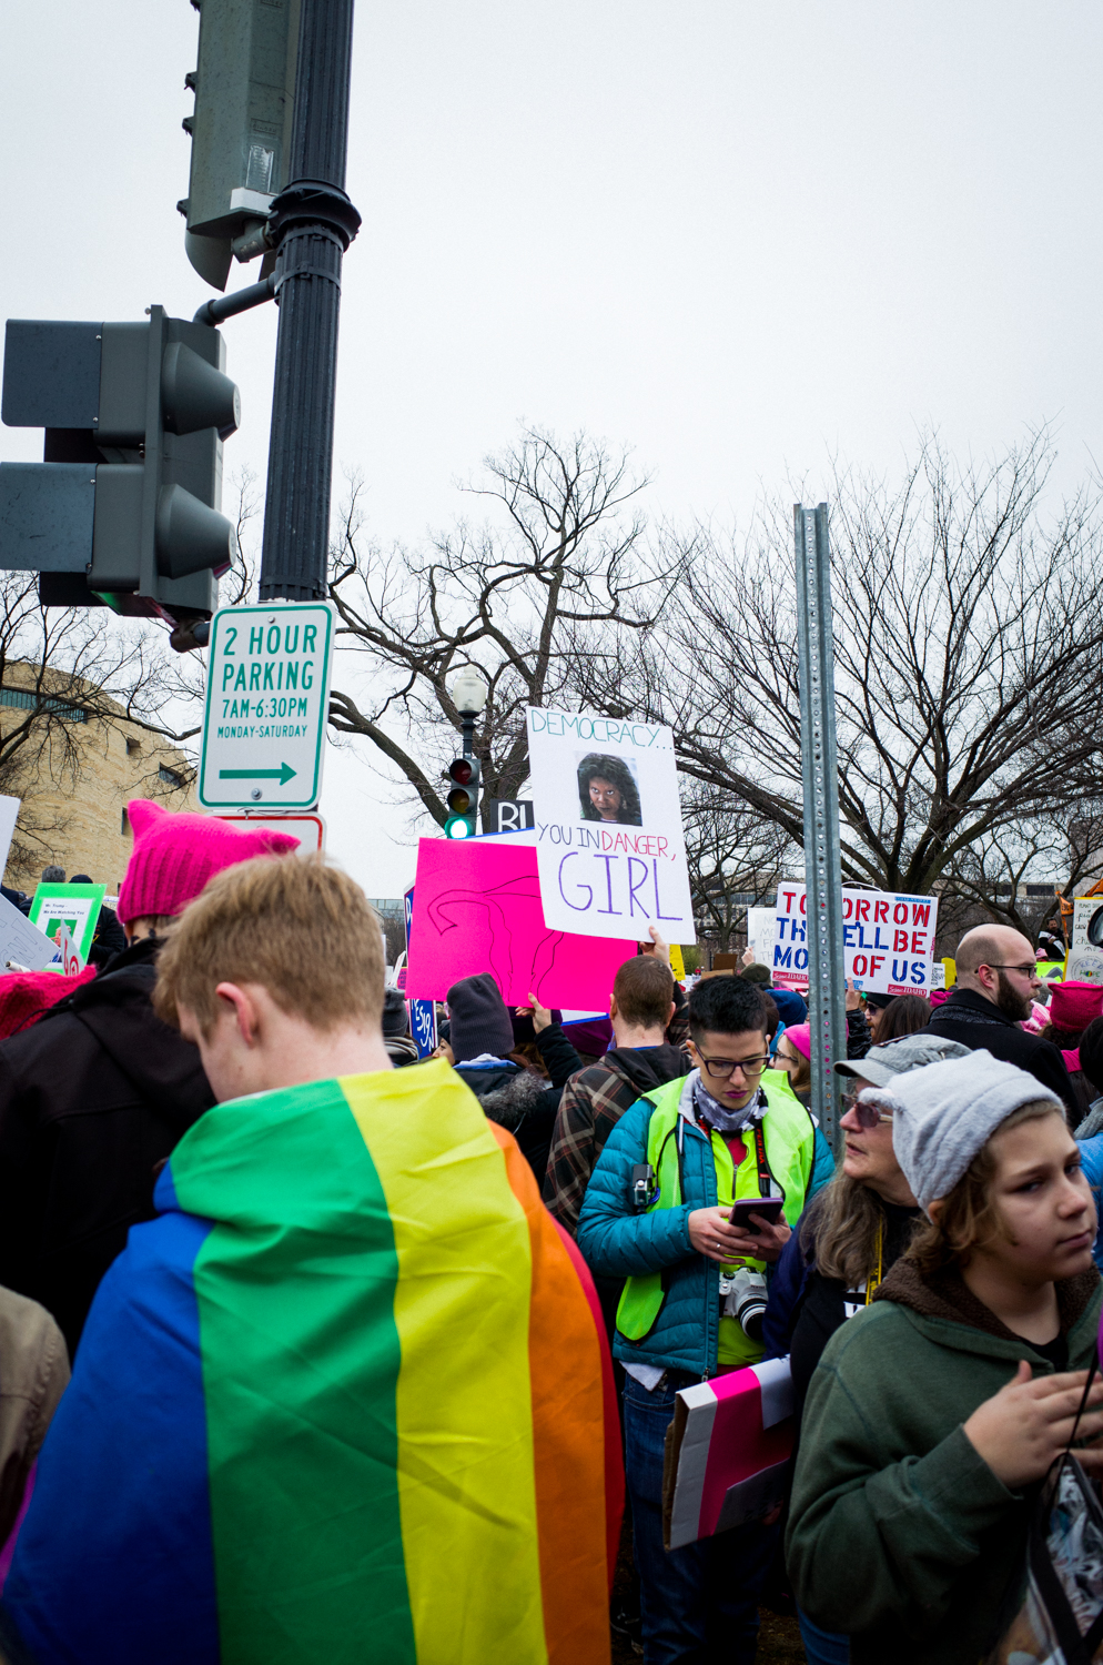
[[[333,638],[328,601],[220,608],[215,614],[200,758],[205,809],[314,808]]]

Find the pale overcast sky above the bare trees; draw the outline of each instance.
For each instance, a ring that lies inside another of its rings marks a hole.
[[[175,208],[196,33],[188,0],[7,7],[3,316],[213,293]],[[519,418],[636,446],[679,519],[812,500],[832,453],[892,475],[927,426],[987,455],[1050,421],[1075,486],[1103,463],[1100,62],[1098,0],[359,0],[338,495],[363,470],[369,529],[418,539]],[[261,480],[275,326],[225,325],[226,470]],[[374,771],[333,751],[321,808],[398,894]]]

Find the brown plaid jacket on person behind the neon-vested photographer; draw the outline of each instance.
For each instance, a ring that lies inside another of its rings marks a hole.
[[[645,1092],[687,1076],[690,1069],[680,1047],[614,1047],[599,1064],[581,1069],[566,1084],[551,1141],[544,1202],[572,1237],[579,1229],[594,1162],[624,1112]]]

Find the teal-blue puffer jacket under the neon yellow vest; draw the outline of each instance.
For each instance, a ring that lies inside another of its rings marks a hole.
[[[611,1132],[582,1199],[577,1245],[599,1277],[665,1274],[665,1300],[654,1329],[639,1344],[626,1340],[617,1330],[612,1344],[616,1357],[705,1377],[715,1372],[720,1284],[717,1265],[697,1254],[689,1240],[689,1215],[694,1209],[717,1204],[712,1147],[699,1129],[687,1126],[682,1159],[685,1202],[677,1209],[636,1214],[632,1167],[647,1161],[652,1112],[654,1104],[639,1099]],[[817,1127],[805,1205],[833,1172],[830,1147]]]

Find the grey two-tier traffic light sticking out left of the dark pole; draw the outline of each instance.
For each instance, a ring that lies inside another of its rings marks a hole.
[[[0,416],[45,428],[45,461],[0,463],[0,568],[45,606],[210,618],[236,533],[218,513],[240,423],[218,330],[8,320]],[[186,626],[185,626],[186,629]]]

